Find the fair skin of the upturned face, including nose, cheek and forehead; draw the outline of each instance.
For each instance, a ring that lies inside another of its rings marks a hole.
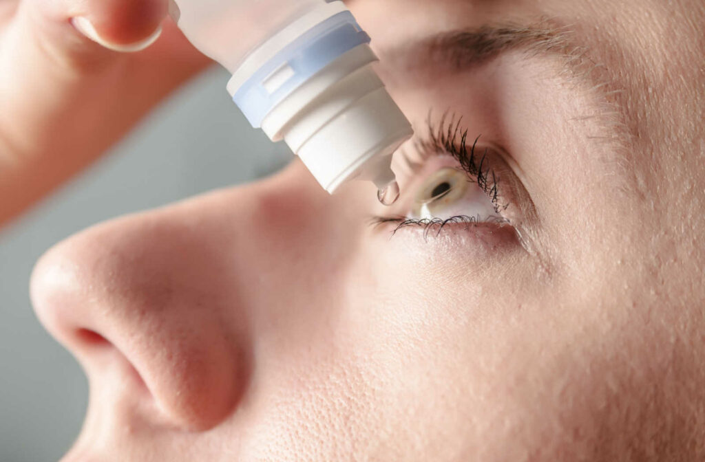
[[[492,148],[510,224],[392,237],[370,218],[408,199],[329,197],[295,162],[68,239],[32,279],[90,379],[65,460],[705,458],[702,2],[350,8],[420,139],[446,114]],[[554,46],[427,56],[484,25]],[[407,197],[457,166],[417,144]]]

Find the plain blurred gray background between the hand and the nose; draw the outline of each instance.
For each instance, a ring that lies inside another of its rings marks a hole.
[[[78,363],[32,312],[37,258],[94,223],[268,175],[290,160],[286,146],[247,125],[227,80],[209,70],[87,173],[0,230],[0,462],[57,461],[87,404]]]

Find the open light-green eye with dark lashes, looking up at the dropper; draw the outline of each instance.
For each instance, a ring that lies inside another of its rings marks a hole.
[[[444,116],[429,122],[425,137],[405,154],[403,194],[390,216],[373,223],[390,227],[392,235],[421,228],[424,237],[440,235],[451,227],[511,227],[513,181],[499,149],[482,137],[469,137],[462,118]],[[409,159],[415,157],[414,161]]]

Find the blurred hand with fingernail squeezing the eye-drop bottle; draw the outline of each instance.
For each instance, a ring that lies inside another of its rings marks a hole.
[[[167,12],[168,0],[0,2],[0,225],[209,63]]]

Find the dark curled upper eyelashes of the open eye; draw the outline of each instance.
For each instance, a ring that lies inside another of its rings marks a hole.
[[[500,204],[497,186],[499,179],[496,177],[494,169],[484,168],[487,149],[482,153],[479,162],[477,161],[477,143],[482,135],[474,139],[470,151],[468,151],[468,130],[462,129],[461,123],[462,116],[456,118],[455,114],[452,114],[448,120],[448,113],[444,113],[438,127],[434,127],[429,114],[429,118],[427,118],[429,138],[417,140],[415,147],[421,153],[443,152],[453,156],[460,163],[460,168],[465,170],[470,181],[476,183],[489,196],[496,213],[500,213],[508,208],[508,204]]]

